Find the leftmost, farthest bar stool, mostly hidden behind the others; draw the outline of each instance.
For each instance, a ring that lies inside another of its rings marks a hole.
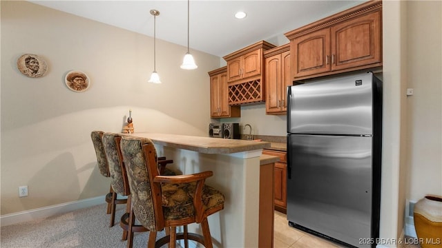
[[[90,133],[90,138],[92,138],[92,143],[95,148],[95,154],[97,155],[97,165],[99,168],[100,174],[105,177],[110,177],[109,174],[109,165],[106,159],[106,155],[104,153],[104,147],[102,143],[102,136],[104,132],[102,131],[93,131]],[[116,204],[126,204],[126,199],[117,198],[117,194],[113,191],[112,185],[109,188],[109,193],[106,194],[106,203],[108,203],[106,214],[111,214],[111,223],[109,223],[109,227],[113,227],[115,224],[115,205]]]

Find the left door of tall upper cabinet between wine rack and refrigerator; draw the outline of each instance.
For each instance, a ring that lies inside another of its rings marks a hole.
[[[280,111],[281,54],[265,59],[265,110],[267,114]]]

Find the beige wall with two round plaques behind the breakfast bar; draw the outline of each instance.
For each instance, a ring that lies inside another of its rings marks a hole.
[[[161,17],[158,17],[161,18]],[[151,20],[153,28],[153,17]],[[48,63],[46,76],[17,70],[22,54]],[[121,132],[132,109],[135,132],[206,136],[209,75],[218,56],[194,52],[198,70],[181,70],[186,48],[26,1],[1,1],[1,214],[102,196],[90,132]],[[86,92],[64,84],[88,74]],[[18,197],[28,185],[29,196]]]

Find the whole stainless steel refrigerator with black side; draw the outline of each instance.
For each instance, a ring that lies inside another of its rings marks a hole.
[[[382,82],[372,72],[287,88],[287,220],[348,247],[375,247]]]

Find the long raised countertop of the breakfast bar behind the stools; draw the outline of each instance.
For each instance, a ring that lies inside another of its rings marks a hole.
[[[204,154],[232,154],[258,149],[269,149],[270,142],[246,141],[229,138],[209,138],[178,134],[133,133],[129,136],[150,138],[155,144],[167,147],[187,149]]]

